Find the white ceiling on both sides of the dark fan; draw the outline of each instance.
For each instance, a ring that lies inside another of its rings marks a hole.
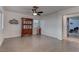
[[[72,7],[73,6],[39,6],[38,11],[43,11],[44,13],[42,15],[47,15]],[[23,14],[32,14],[32,6],[5,6],[4,9]]]

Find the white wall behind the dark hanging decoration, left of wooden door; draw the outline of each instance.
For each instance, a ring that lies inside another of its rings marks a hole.
[[[38,17],[34,17],[31,15],[24,15],[16,12],[9,12],[5,11],[5,30],[4,30],[4,36],[5,38],[10,38],[10,37],[17,37],[21,36],[21,18],[33,18],[33,19],[38,19]],[[10,24],[9,20],[15,18],[16,20],[19,21],[19,24]]]

